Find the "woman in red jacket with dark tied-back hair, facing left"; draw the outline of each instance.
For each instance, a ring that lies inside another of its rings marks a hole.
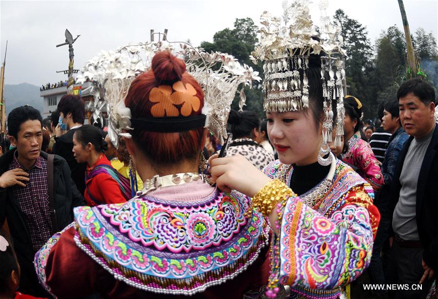
[[[107,142],[93,125],[83,125],[73,135],[73,153],[78,163],[87,162],[85,201],[90,206],[125,202],[131,198],[129,181],[105,157]]]

